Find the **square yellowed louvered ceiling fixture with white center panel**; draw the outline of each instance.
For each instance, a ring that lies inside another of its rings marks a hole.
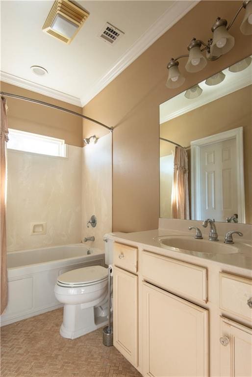
[[[89,13],[69,0],[56,0],[42,30],[67,44],[71,43]]]

